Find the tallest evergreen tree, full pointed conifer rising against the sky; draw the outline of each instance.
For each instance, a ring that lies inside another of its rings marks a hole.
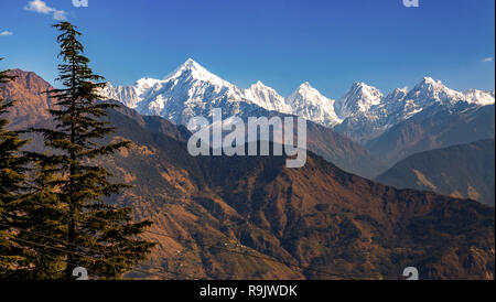
[[[48,229],[56,229],[53,235],[57,239],[58,231],[65,233],[60,242],[66,251],[64,278],[72,279],[76,266],[86,268],[96,278],[121,278],[145,259],[153,247],[154,244],[138,238],[151,223],[134,223],[130,208],[117,208],[104,201],[127,186],[111,183],[111,174],[91,162],[127,148],[129,142],[104,143],[104,138],[114,131],[104,120],[106,110],[116,105],[97,101],[101,99],[98,90],[105,83],[88,67],[89,60],[84,56],[83,44],[78,41],[80,33],[68,22],[54,28],[61,32],[57,42],[62,63],[57,80],[63,85],[63,88],[48,91],[56,100],[50,110],[56,126],[55,129],[31,129],[43,134],[52,153],[31,155],[55,177],[39,174],[47,183],[39,183],[37,195],[31,197],[43,196],[44,203],[55,202],[57,209],[64,213],[61,222],[52,222]],[[41,190],[44,187],[56,190],[43,195]],[[61,223],[63,227],[58,225]]]

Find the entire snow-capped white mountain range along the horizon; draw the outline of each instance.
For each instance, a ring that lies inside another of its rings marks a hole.
[[[211,116],[215,107],[223,108],[226,117],[261,107],[301,116],[360,143],[425,110],[455,112],[495,103],[494,90],[456,91],[430,77],[410,90],[397,88],[386,96],[375,87],[355,83],[344,97],[334,100],[303,83],[293,94],[282,97],[261,82],[238,88],[191,58],[163,79],[142,78],[131,86],[117,87],[107,83],[103,94],[142,115],[158,115],[182,125],[193,116]]]

